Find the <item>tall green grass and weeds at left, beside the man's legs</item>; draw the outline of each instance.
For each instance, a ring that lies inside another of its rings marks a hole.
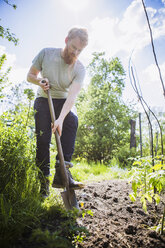
[[[27,108],[0,120],[0,244],[19,236],[39,214],[39,182]]]

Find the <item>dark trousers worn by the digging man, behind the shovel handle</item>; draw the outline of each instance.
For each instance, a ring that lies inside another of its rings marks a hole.
[[[56,119],[59,117],[66,99],[53,99]],[[44,97],[36,98],[34,102],[35,110],[35,131],[36,131],[36,164],[45,176],[50,173],[50,142],[51,142],[51,116],[48,99]],[[73,112],[69,112],[64,119],[61,135],[61,145],[65,161],[70,162],[74,152],[76,133],[78,128],[78,118]],[[58,154],[57,157],[58,158]]]

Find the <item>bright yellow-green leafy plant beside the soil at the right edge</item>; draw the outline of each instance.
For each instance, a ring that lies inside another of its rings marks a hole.
[[[162,163],[162,158],[157,157],[156,164],[153,166],[149,157],[135,161],[134,166],[138,167],[134,167],[131,178],[133,193],[130,194],[130,198],[132,201],[140,198],[142,207],[147,212],[147,202],[158,205],[163,201],[160,193],[165,188],[165,164]]]

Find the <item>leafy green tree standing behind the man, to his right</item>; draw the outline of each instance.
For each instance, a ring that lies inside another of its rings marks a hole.
[[[91,82],[77,102],[79,129],[75,156],[108,162],[126,142],[133,111],[122,101],[125,72],[118,58],[94,53]]]

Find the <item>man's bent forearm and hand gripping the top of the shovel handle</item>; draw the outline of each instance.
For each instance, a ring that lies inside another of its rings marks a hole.
[[[49,89],[49,81],[47,78],[39,78],[39,72],[40,71],[38,69],[36,69],[34,66],[31,66],[27,74],[27,81],[36,84],[40,86],[44,91],[47,91]],[[42,83],[42,80],[45,80],[46,83]]]

